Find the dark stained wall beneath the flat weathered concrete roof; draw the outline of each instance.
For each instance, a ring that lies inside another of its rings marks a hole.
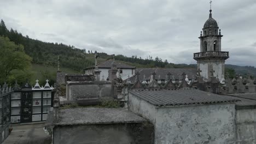
[[[152,144],[154,126],[149,123],[57,126],[53,135],[54,144]]]

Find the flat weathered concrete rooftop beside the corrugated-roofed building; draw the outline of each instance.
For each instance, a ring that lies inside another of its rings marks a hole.
[[[57,122],[49,122],[51,118],[48,117],[46,125],[142,123],[146,121],[146,119],[121,108],[84,107],[63,109],[58,112],[58,115],[60,117]]]

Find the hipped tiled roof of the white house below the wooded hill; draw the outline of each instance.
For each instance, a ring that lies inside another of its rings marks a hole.
[[[109,59],[108,61],[99,63],[98,68],[109,68],[110,69],[112,67],[111,64],[112,64],[113,61],[114,61],[113,59]],[[120,69],[135,69],[136,68],[136,67],[133,67],[131,65],[121,63],[119,61],[115,61],[115,63],[117,64],[117,68],[120,68]],[[87,67],[85,69],[88,69],[88,68],[94,68],[94,66]]]

